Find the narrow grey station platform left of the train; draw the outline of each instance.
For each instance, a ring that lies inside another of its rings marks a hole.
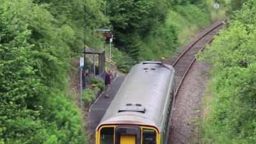
[[[95,131],[97,125],[99,124],[100,120],[106,113],[109,105],[111,104],[112,100],[114,99],[116,93],[118,92],[119,88],[121,87],[122,83],[124,82],[125,75],[117,76],[113,82],[110,84],[108,95],[109,98],[105,98],[104,94],[100,95],[100,97],[95,100],[92,106],[89,109],[89,118],[88,118],[88,129],[89,131]]]

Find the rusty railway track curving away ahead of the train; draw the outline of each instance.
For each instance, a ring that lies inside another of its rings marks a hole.
[[[189,68],[193,65],[196,60],[195,55],[198,51],[203,51],[205,46],[210,44],[215,35],[218,35],[220,29],[224,26],[223,22],[220,22],[210,28],[208,31],[203,33],[199,38],[197,38],[188,48],[180,54],[180,56],[172,63],[176,72],[175,81],[175,95],[179,92],[180,84],[182,84]]]

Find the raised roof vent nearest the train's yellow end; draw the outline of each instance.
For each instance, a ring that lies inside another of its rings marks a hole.
[[[118,110],[118,113],[124,112],[124,111],[134,111],[134,112],[139,112],[139,113],[145,113],[146,108],[144,106],[142,106],[141,104],[126,104],[125,106],[122,106]]]

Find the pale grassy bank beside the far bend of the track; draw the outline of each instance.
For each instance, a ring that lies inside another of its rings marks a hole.
[[[208,12],[204,12],[198,6],[188,4],[187,6],[177,6],[175,10],[170,10],[166,20],[167,25],[176,26],[178,31],[178,42],[185,44],[200,29],[206,28],[215,20],[225,18],[225,7],[214,9],[214,0],[206,0]],[[192,14],[191,14],[192,13]],[[210,17],[210,18],[209,18]]]

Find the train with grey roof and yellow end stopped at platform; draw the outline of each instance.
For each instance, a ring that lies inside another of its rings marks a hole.
[[[161,61],[131,68],[95,130],[96,144],[166,144],[175,69]]]

